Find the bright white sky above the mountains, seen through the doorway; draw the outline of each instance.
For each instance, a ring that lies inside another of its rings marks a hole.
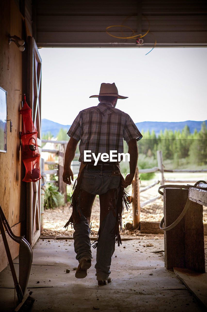
[[[133,121],[207,119],[207,48],[42,48],[42,118],[72,124],[115,82]]]

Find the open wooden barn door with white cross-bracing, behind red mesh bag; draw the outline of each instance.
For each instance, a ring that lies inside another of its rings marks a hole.
[[[41,154],[41,72],[42,60],[33,37],[28,37],[28,105],[32,109],[33,123],[38,132]],[[41,159],[41,158],[40,158]],[[40,170],[41,170],[41,163]],[[27,183],[27,240],[31,246],[40,236],[41,180]]]

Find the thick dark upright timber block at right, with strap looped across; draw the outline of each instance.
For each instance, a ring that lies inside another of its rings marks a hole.
[[[188,190],[164,189],[164,225],[170,226],[181,214]],[[164,232],[165,267],[205,272],[203,207],[191,202],[186,215],[170,231]]]

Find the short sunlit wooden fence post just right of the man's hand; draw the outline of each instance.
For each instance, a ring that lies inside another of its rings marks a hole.
[[[137,167],[134,179],[132,181],[132,215],[133,229],[137,229],[140,226],[139,172]]]

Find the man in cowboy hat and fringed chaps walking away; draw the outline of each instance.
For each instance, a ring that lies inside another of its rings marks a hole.
[[[94,243],[96,252],[96,279],[98,285],[111,282],[111,257],[115,243],[121,243],[119,228],[122,222],[123,201],[127,204],[124,188],[131,184],[137,166],[137,141],[142,138],[140,131],[126,113],[115,108],[117,99],[126,99],[118,94],[115,83],[102,83],[98,97],[99,104],[82,110],[68,135],[64,162],[63,181],[71,184],[73,173],[71,162],[75,157],[77,144],[81,162],[76,186],[72,195],[72,215],[65,227],[74,227],[74,248],[79,265],[76,278],[85,278],[91,266],[90,216],[96,195],[100,201],[100,227],[98,240]],[[130,173],[124,179],[120,173],[120,160],[107,157],[111,151],[123,153],[123,139],[128,144]],[[84,159],[84,151],[94,155]]]

